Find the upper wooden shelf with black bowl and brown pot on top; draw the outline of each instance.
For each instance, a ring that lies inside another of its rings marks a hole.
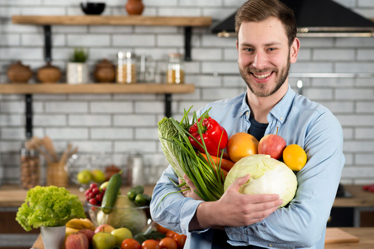
[[[13,15],[13,23],[38,25],[210,26],[210,16]]]

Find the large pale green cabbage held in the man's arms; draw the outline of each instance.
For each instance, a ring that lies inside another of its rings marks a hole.
[[[283,200],[280,207],[287,205],[296,193],[297,180],[292,170],[284,163],[262,154],[246,156],[237,161],[226,176],[224,191],[237,178],[247,174],[250,179],[240,187],[239,193],[278,194]]]

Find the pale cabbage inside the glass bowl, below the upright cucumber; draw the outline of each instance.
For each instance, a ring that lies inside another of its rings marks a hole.
[[[105,214],[101,210],[96,216],[97,224],[108,224],[113,228],[127,228],[133,235],[141,232],[147,223],[144,209],[136,206],[125,195],[118,195],[115,199],[114,209]]]

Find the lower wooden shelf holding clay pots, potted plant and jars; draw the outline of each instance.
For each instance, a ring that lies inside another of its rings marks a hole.
[[[0,94],[103,94],[103,93],[191,93],[193,84],[115,84],[90,83],[69,85],[55,84],[0,84]]]

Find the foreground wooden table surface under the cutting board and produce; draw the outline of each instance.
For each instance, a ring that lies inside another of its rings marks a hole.
[[[373,249],[374,248],[374,227],[372,228],[340,228],[345,232],[357,236],[359,238],[358,243],[337,243],[327,244],[324,246],[325,249]],[[33,248],[44,249],[41,236],[39,235],[32,245]]]

